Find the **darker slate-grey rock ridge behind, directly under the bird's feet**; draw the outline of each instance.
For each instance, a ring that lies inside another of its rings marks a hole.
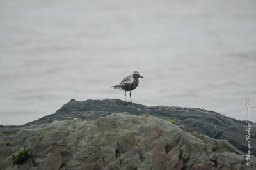
[[[54,120],[60,120],[61,117],[74,117],[85,120],[95,120],[111,113],[127,112],[131,115],[148,115],[162,118],[164,120],[175,120],[179,127],[189,132],[196,132],[215,139],[225,139],[242,152],[248,152],[248,141],[246,141],[245,121],[235,120],[225,117],[214,111],[207,111],[198,108],[180,108],[167,106],[144,106],[141,104],[129,103],[125,105],[124,101],[118,99],[75,101],[72,99],[60,110],[52,115],[40,118],[26,125],[45,124]],[[256,146],[256,128],[252,122],[251,145]],[[256,155],[255,147],[251,150],[252,155]]]

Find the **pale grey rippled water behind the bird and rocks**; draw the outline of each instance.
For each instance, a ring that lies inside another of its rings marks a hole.
[[[21,125],[140,71],[134,103],[256,121],[256,1],[0,1],[0,124]]]

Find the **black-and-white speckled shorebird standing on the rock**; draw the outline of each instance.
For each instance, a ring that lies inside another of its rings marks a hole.
[[[124,100],[126,103],[126,92],[130,92],[130,100],[132,103],[131,93],[139,85],[139,78],[144,78],[138,71],[134,71],[131,75],[125,77],[119,85],[111,86],[114,89],[124,90]]]

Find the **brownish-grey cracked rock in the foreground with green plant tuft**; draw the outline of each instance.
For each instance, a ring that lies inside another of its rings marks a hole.
[[[185,132],[161,118],[129,113],[90,117],[60,116],[0,128],[0,169],[247,169],[244,154],[228,141]],[[19,148],[28,148],[31,157],[13,165],[11,157]]]

